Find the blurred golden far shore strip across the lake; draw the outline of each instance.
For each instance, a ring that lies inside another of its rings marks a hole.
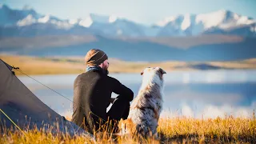
[[[3,61],[11,66],[19,67],[25,74],[81,74],[86,66],[83,58],[38,58],[20,55],[1,55]],[[256,69],[256,59],[234,62],[204,62],[210,66],[225,69]],[[144,68],[160,66],[166,71],[195,70],[191,64],[200,62],[124,62],[110,58],[110,73],[140,73]],[[16,72],[17,75],[22,75]]]

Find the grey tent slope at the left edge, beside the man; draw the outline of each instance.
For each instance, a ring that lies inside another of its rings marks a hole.
[[[37,98],[12,72],[13,67],[0,59],[0,109],[21,129],[34,126],[52,132],[92,136],[73,122],[66,120]],[[15,127],[0,112],[0,129]]]

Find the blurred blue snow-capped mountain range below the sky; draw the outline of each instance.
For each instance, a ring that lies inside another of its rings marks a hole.
[[[102,36],[163,37],[199,34],[235,34],[256,36],[256,21],[230,10],[208,14],[180,14],[164,18],[153,26],[144,26],[126,18],[89,14],[86,18],[60,19],[38,14],[25,6],[12,10],[0,5],[0,36],[36,36],[47,34],[98,34]]]

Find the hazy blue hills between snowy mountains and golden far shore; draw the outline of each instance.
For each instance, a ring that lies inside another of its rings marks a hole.
[[[0,52],[34,56],[84,56],[92,48],[125,61],[233,61],[256,57],[256,38],[223,35],[190,38],[51,36],[2,38]]]

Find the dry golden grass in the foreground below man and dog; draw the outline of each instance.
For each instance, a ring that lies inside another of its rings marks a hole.
[[[159,138],[114,136],[106,132],[95,133],[97,143],[255,143],[255,118],[162,118],[158,122]],[[50,131],[5,130],[0,143],[93,143],[84,136],[52,134]]]

